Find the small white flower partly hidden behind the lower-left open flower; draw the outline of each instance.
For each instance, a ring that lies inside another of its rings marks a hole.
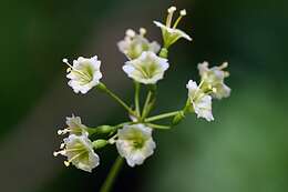
[[[68,128],[63,130],[59,130],[58,134],[66,134],[66,133],[76,134],[76,135],[89,134],[86,130],[88,128],[81,122],[81,118],[74,117],[74,114],[72,114],[71,118],[66,118],[66,125]]]

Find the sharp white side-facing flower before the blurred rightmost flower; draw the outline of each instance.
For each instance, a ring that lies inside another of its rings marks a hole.
[[[205,118],[207,121],[213,121],[212,97],[205,94],[193,80],[188,81],[186,88],[188,89],[188,98],[197,118]]]

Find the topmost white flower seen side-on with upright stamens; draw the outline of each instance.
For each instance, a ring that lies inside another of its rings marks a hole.
[[[192,41],[192,38],[186,34],[184,31],[177,29],[177,26],[181,21],[181,19],[186,16],[186,10],[181,11],[181,16],[178,19],[175,21],[175,23],[172,27],[172,19],[173,19],[173,13],[176,11],[175,7],[171,7],[168,10],[168,16],[166,19],[166,24],[163,24],[158,21],[154,21],[154,23],[161,28],[162,30],[162,36],[164,40],[164,47],[167,49],[169,46],[175,43],[178,39],[184,38],[188,41]]]

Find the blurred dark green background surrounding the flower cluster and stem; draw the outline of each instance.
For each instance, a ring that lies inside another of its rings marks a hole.
[[[116,156],[101,152],[93,174],[54,159],[71,113],[86,124],[117,123],[125,113],[100,93],[76,95],[66,85],[62,58],[97,54],[103,81],[130,99],[133,87],[121,70],[116,42],[127,28],[148,30],[176,4],[188,16],[181,27],[194,41],[171,50],[172,68],[160,83],[157,111],[181,108],[196,64],[229,61],[229,99],[213,104],[213,123],[194,115],[157,131],[157,149],[145,164],[125,166],[121,192],[288,191],[288,1],[281,0],[30,0],[1,1],[0,191],[97,191]],[[172,91],[173,90],[173,91]]]

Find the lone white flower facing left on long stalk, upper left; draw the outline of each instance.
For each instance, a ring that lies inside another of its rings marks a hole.
[[[100,83],[102,73],[100,72],[101,61],[97,57],[93,58],[78,58],[71,65],[66,59],[63,59],[70,68],[68,69],[69,74],[66,78],[70,79],[68,84],[74,90],[75,93],[81,92],[85,94],[89,90]]]

